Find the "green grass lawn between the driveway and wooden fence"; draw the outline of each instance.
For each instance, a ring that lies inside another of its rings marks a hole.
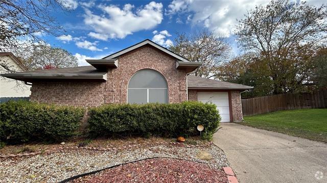
[[[277,111],[247,116],[241,124],[327,142],[327,109]]]

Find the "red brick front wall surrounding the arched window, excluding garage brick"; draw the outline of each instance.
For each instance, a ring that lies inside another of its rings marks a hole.
[[[176,59],[156,48],[143,46],[121,56],[118,68],[111,69],[106,82],[34,82],[31,101],[74,106],[100,106],[126,103],[127,87],[132,75],[141,69],[154,69],[168,84],[168,102],[188,99],[186,71],[176,69]]]

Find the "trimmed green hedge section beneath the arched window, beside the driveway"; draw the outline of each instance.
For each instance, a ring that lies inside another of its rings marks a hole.
[[[198,124],[204,126],[203,137],[211,140],[219,126],[220,116],[215,104],[196,101],[173,104],[107,104],[89,109],[91,135],[130,135],[144,137],[177,137],[200,135]]]

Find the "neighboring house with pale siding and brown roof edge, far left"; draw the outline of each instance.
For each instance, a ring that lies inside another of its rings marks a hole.
[[[23,71],[28,70],[12,53],[0,53],[1,74]],[[31,94],[30,88],[24,82],[0,76],[0,97],[28,97]]]

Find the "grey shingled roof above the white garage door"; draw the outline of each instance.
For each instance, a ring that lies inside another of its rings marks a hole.
[[[248,90],[253,87],[188,75],[188,89]]]

